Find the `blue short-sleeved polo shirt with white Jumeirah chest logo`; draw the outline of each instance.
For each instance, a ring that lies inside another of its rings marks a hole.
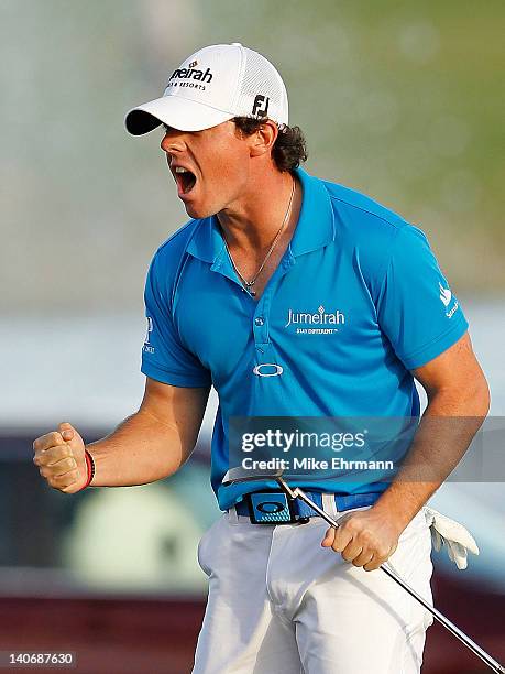
[[[223,487],[234,416],[417,416],[410,370],[468,323],[420,229],[373,199],[297,170],[293,239],[259,301],[240,283],[217,218],[190,220],[155,253],[145,284],[142,372],[219,396],[211,483],[222,510],[254,482]],[[385,482],[298,486],[382,492]]]

